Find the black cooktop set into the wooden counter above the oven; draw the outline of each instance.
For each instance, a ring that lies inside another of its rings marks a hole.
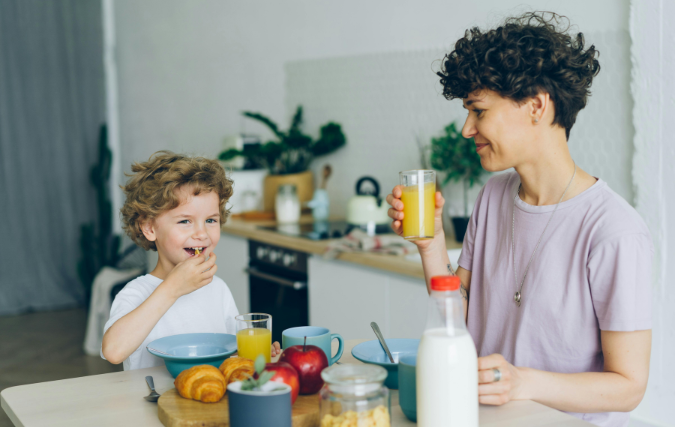
[[[353,229],[360,228],[370,235],[393,233],[390,224],[353,225],[347,221],[325,221],[310,224],[277,224],[271,227],[258,227],[262,230],[276,231],[292,237],[304,237],[310,240],[339,239]]]

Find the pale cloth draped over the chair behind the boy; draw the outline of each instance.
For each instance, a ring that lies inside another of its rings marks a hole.
[[[84,352],[90,356],[101,354],[103,327],[110,317],[110,291],[120,282],[128,282],[143,273],[143,269],[117,270],[103,267],[94,278],[87,320],[87,333],[84,336]]]

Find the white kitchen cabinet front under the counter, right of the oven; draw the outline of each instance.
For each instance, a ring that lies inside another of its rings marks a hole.
[[[424,280],[320,256],[309,259],[309,323],[344,339],[373,336],[419,338],[426,322]]]

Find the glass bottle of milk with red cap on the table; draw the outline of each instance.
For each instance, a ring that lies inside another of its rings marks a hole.
[[[464,323],[457,276],[431,278],[417,355],[417,425],[478,426],[478,358]]]

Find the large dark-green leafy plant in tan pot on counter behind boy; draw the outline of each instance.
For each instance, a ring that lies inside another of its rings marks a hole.
[[[220,153],[220,160],[242,156],[248,161],[263,165],[269,172],[264,184],[264,209],[274,210],[274,198],[281,185],[294,184],[300,203],[308,202],[314,194],[314,177],[309,170],[312,160],[330,154],[347,142],[339,124],[329,122],[321,127],[319,137],[313,139],[302,133],[302,106],[298,106],[288,131],[279,129],[268,117],[245,111],[245,117],[267,126],[276,140],[248,147],[246,150],[231,148]]]

